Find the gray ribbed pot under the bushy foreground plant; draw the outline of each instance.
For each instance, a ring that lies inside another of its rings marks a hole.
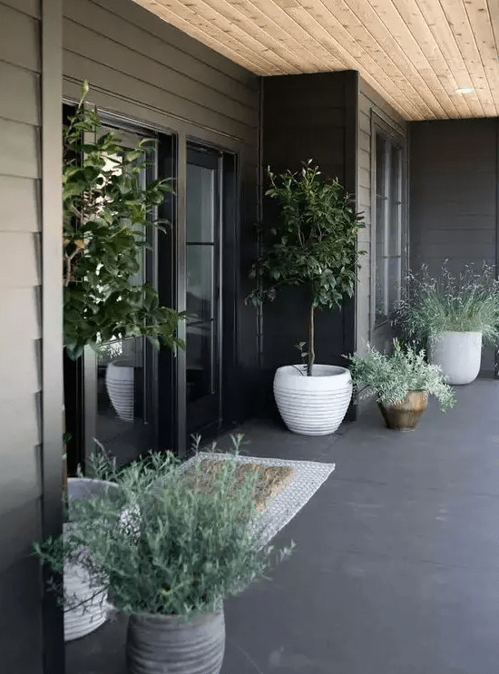
[[[174,615],[130,616],[126,640],[129,674],[220,674],[224,651],[223,609],[189,622]]]

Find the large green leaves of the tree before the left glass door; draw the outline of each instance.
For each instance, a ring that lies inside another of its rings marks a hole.
[[[151,148],[125,150],[113,132],[99,133],[98,114],[85,107],[88,84],[64,129],[64,340],[74,360],[87,345],[149,337],[155,347],[182,347],[182,314],[161,307],[151,284],[136,282],[153,213],[172,192],[169,181],[142,185]],[[91,136],[91,140],[89,140]]]

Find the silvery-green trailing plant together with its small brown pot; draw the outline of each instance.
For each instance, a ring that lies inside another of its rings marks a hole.
[[[360,396],[376,396],[388,428],[415,428],[435,396],[442,411],[455,405],[452,387],[445,384],[438,366],[426,362],[424,349],[393,340],[393,351],[384,354],[368,346],[365,354],[349,356],[350,372]]]

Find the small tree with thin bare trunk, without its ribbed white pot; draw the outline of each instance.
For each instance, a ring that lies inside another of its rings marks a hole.
[[[355,204],[337,181],[326,181],[312,160],[298,173],[268,171],[266,195],[279,201],[281,219],[264,232],[261,255],[250,277],[259,285],[247,302],[259,306],[277,297],[279,288],[305,284],[310,291],[308,372],[314,361],[315,308],[340,307],[352,297],[357,281],[357,233],[362,224]]]

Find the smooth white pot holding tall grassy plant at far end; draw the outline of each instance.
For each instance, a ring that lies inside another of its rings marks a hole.
[[[428,360],[442,368],[447,384],[470,384],[482,360],[481,332],[441,332],[428,337]]]

